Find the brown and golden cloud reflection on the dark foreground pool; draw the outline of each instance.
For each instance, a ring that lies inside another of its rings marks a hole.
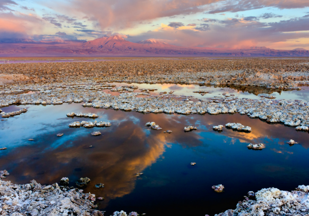
[[[225,125],[232,122],[252,127],[251,133],[223,128],[219,135],[231,138],[222,139],[222,142],[228,144],[235,145],[238,141],[241,143],[262,143],[262,139],[271,141],[275,138],[289,140],[293,136],[298,137],[297,142],[303,143],[303,147],[308,147],[306,144],[308,133],[299,133],[296,136],[298,132],[294,128],[281,124],[270,125],[246,115],[141,114],[115,110],[102,111],[79,106],[77,109],[83,112],[98,113],[100,111],[102,114],[106,114],[108,120],[112,121],[112,126],[98,129],[102,132],[101,136],[78,135],[74,140],[67,140],[57,148],[51,148],[50,142],[16,148],[15,151],[0,158],[0,164],[6,164],[8,166],[6,169],[11,172],[8,180],[15,183],[27,183],[35,178],[41,184],[52,184],[59,182],[62,177],[69,177],[72,182],[80,177],[89,177],[91,182],[84,191],[105,197],[102,206],[100,206],[104,208],[108,205],[109,200],[131,193],[138,181],[134,175],[137,172],[143,172],[160,157],[163,158],[162,155],[166,147],[171,147],[171,143],[186,148],[203,145],[202,140],[205,138],[209,139],[210,143],[214,143],[213,139],[216,138],[202,135],[205,132],[209,133],[208,135],[211,135],[210,133],[218,135],[217,131],[212,130],[214,125]],[[144,126],[148,121],[155,121],[163,130],[156,131]],[[185,133],[184,127],[188,125],[197,126],[197,131]],[[202,125],[206,129],[202,129]],[[75,128],[70,131],[72,133],[76,130],[88,129]],[[166,130],[173,132],[171,134],[163,133]],[[43,136],[49,140],[49,134]],[[282,140],[280,142],[282,144]],[[282,145],[283,149],[281,150],[277,150],[268,143],[266,143],[266,147],[276,153],[293,154],[292,151],[287,150],[290,147],[287,144]],[[264,167],[263,169],[272,170],[273,167]],[[144,173],[144,176],[146,175],[147,173]],[[143,178],[143,175],[139,178]],[[96,189],[94,185],[98,183],[103,183],[104,189]],[[153,181],[152,183],[154,186],[166,184],[165,181]]]

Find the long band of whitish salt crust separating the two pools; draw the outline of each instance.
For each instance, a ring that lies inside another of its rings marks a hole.
[[[30,86],[29,86],[30,87]],[[73,86],[74,87],[74,86]],[[111,108],[115,110],[137,111],[143,113],[179,114],[248,114],[250,118],[260,118],[271,123],[284,123],[289,126],[309,126],[309,102],[287,102],[246,98],[227,98],[219,103],[178,101],[165,95],[138,98],[141,93],[121,93],[112,96],[97,90],[68,88],[66,85],[43,87],[32,85],[33,91],[40,94],[0,94],[0,107],[13,104],[62,104],[84,102],[83,106]]]

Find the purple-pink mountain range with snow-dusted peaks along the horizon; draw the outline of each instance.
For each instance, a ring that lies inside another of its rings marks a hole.
[[[91,41],[0,39],[0,56],[309,56],[303,48],[276,50],[267,47],[249,49],[180,47],[157,41],[142,40],[133,43],[114,35]]]

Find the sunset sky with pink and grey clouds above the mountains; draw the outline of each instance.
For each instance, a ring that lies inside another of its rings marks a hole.
[[[0,38],[309,50],[309,0],[0,0]]]

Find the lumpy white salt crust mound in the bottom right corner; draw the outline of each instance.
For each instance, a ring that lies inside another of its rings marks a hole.
[[[299,191],[283,191],[277,188],[261,189],[255,193],[256,201],[239,201],[235,210],[227,210],[215,216],[305,216],[309,214],[309,186],[300,185]],[[251,191],[252,192],[252,191]]]

